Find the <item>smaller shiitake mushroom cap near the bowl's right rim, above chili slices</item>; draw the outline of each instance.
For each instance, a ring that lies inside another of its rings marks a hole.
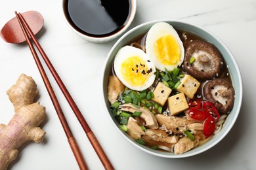
[[[234,88],[226,78],[209,80],[203,86],[203,95],[215,105],[216,109],[225,114],[234,105]]]

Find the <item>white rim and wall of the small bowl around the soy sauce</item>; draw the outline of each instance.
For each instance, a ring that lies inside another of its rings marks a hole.
[[[90,41],[90,42],[96,42],[96,43],[112,41],[112,40],[116,39],[117,37],[119,37],[121,34],[123,34],[127,30],[127,28],[129,27],[129,25],[131,25],[131,22],[133,22],[133,18],[135,17],[136,9],[137,9],[136,0],[129,0],[130,12],[129,12],[129,16],[128,16],[127,20],[123,24],[123,27],[121,29],[119,29],[118,31],[116,31],[115,33],[111,34],[111,35],[107,35],[107,36],[104,36],[104,37],[93,37],[92,35],[88,35],[86,33],[83,33],[82,31],[79,31],[77,29],[77,27],[75,27],[75,25],[70,22],[70,19],[68,19],[68,12],[66,11],[66,2],[67,1],[68,0],[63,0],[62,1],[62,13],[64,14],[64,20],[66,21],[68,26],[77,35],[79,35],[79,37],[81,37],[82,39],[85,39],[86,41]]]

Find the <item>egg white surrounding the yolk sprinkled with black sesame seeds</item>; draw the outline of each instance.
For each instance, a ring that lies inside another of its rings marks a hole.
[[[125,79],[125,77],[122,75],[122,71],[131,71],[133,76],[137,76],[137,74],[142,74],[141,70],[138,71],[139,73],[137,72],[137,67],[141,68],[140,63],[134,63],[134,65],[131,65],[131,66],[129,65],[129,68],[122,67],[122,64],[127,59],[135,56],[142,59],[148,69],[150,68],[152,69],[150,73],[146,73],[148,77],[143,79],[145,80],[144,84],[139,84],[136,86],[134,84],[129,83]],[[138,66],[136,67],[135,65],[138,65]],[[134,71],[132,71],[132,69]],[[156,75],[154,74],[156,72],[156,67],[152,62],[152,60],[148,57],[148,55],[143,50],[140,50],[139,48],[135,48],[133,46],[123,46],[122,48],[119,49],[119,51],[116,54],[116,58],[114,60],[114,71],[116,73],[116,76],[119,78],[119,80],[125,86],[127,86],[127,88],[130,88],[131,90],[137,90],[137,91],[145,90],[146,88],[149,88],[153,84],[156,78]]]

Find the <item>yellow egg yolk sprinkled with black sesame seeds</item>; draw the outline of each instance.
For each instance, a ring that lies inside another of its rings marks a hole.
[[[121,75],[131,86],[142,86],[148,80],[149,74],[146,62],[139,56],[125,59],[121,64]]]

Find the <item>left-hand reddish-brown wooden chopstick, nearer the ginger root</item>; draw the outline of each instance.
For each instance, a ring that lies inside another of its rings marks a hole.
[[[85,160],[83,159],[83,156],[81,154],[81,151],[75,141],[75,138],[72,135],[72,131],[70,130],[70,127],[68,126],[68,122],[66,121],[66,118],[62,112],[62,109],[60,108],[60,104],[58,103],[58,99],[56,98],[56,95],[53,91],[53,88],[51,86],[51,83],[49,82],[49,79],[45,73],[45,70],[43,69],[43,65],[41,64],[41,61],[39,60],[37,53],[35,52],[35,48],[33,48],[33,44],[30,41],[30,38],[28,37],[28,33],[26,32],[24,25],[22,25],[22,20],[20,20],[20,15],[17,14],[15,11],[16,17],[18,19],[18,22],[20,24],[20,27],[22,28],[22,31],[24,33],[24,36],[26,37],[26,41],[28,42],[28,46],[30,47],[30,50],[33,54],[33,58],[35,59],[35,63],[39,69],[39,72],[43,78],[43,82],[45,83],[45,86],[47,88],[47,92],[49,93],[51,100],[53,102],[54,108],[58,114],[58,118],[60,119],[60,123],[62,124],[62,127],[66,133],[66,136],[68,138],[68,143],[70,144],[70,147],[72,148],[72,152],[74,153],[75,160],[77,161],[77,164],[79,165],[80,169],[88,169],[87,165],[85,163]]]

